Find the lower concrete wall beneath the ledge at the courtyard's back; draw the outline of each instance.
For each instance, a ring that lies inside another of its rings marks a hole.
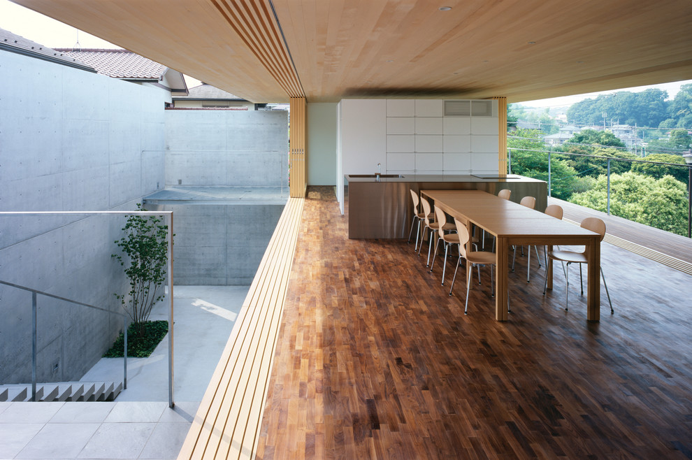
[[[284,204],[147,205],[175,216],[175,285],[250,285]]]

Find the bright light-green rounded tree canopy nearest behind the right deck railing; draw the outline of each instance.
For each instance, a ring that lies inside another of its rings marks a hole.
[[[572,203],[607,211],[607,180],[601,176],[594,187],[573,194]],[[655,179],[632,171],[610,177],[610,213],[657,229],[687,234],[686,186],[665,175]]]

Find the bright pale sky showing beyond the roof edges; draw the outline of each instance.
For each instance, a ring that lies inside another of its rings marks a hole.
[[[78,31],[72,26],[54,20],[50,17],[36,13],[32,10],[12,3],[9,0],[0,0],[0,28],[6,29],[13,34],[23,36],[31,41],[48,46],[49,48],[120,48],[119,46],[101,40],[96,36]],[[185,76],[188,87],[199,85],[199,80]],[[598,94],[612,94],[617,91],[640,92],[647,88],[659,88],[668,92],[668,98],[672,99],[680,89],[681,85],[692,83],[692,80],[682,82],[663,83],[662,85],[640,86],[635,88],[621,88],[612,91],[595,92],[589,94],[575,94],[574,96],[563,96],[552,99],[540,99],[538,101],[526,101],[521,105],[533,108],[549,108],[559,106],[570,106],[573,103],[584,99],[593,99]]]

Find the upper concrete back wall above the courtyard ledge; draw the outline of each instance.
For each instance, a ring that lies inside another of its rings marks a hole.
[[[166,185],[287,187],[288,113],[166,110]]]

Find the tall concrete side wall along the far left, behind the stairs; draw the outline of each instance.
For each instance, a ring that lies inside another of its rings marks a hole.
[[[0,51],[0,210],[131,210],[164,186],[161,89]],[[124,220],[1,217],[0,280],[120,311]],[[0,383],[31,379],[31,294],[0,285]],[[122,318],[38,297],[38,380],[80,378]],[[12,345],[12,346],[10,346]]]

